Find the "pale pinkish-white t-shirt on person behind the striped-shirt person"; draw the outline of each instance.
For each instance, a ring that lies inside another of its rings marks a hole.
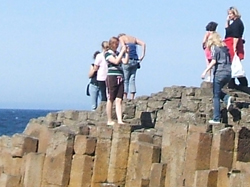
[[[108,73],[108,64],[105,60],[103,52],[99,53],[96,56],[94,64],[99,66],[96,79],[98,81],[105,81],[107,78],[107,73]]]

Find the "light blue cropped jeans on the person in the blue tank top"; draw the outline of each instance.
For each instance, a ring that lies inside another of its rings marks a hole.
[[[130,59],[128,64],[123,64],[123,73],[124,73],[124,93],[136,93],[135,87],[135,76],[137,71],[137,60]]]

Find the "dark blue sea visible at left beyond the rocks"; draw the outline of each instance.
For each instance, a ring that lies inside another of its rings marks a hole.
[[[52,110],[0,109],[0,136],[22,133],[32,118],[46,116]]]

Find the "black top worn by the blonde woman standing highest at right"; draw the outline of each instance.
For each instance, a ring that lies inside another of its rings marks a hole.
[[[242,38],[244,32],[244,24],[240,18],[234,20],[227,28],[226,28],[226,36],[225,38]]]

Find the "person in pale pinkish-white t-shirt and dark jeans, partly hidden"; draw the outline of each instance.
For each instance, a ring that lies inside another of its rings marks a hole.
[[[107,101],[106,78],[108,72],[108,65],[104,57],[104,53],[109,49],[107,41],[102,42],[102,52],[96,56],[94,68],[97,71],[97,82],[101,92],[101,101]]]

